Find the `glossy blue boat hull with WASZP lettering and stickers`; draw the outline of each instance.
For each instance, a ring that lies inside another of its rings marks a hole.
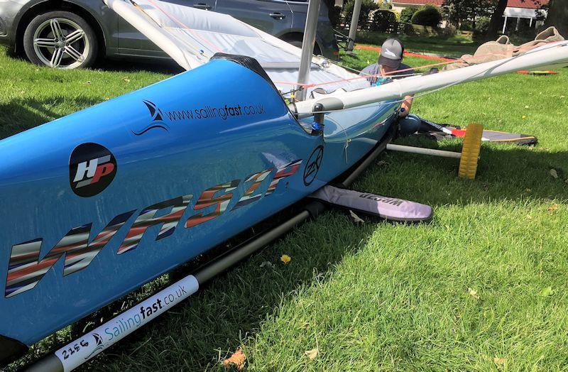
[[[0,141],[0,335],[31,345],[310,195],[397,108],[312,136],[263,77],[213,60]]]

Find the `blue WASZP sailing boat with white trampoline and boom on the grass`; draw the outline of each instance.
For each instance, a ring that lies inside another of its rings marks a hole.
[[[308,99],[288,102],[283,92],[295,88],[301,58],[292,45],[186,6],[107,4],[188,71],[0,141],[9,159],[0,165],[3,361],[317,190],[341,194],[322,187],[348,186],[385,148],[405,94],[568,63],[568,43],[559,42],[370,87],[314,57],[301,85]],[[180,287],[112,319],[118,331],[103,324],[41,367],[70,371],[321,208],[307,202]]]

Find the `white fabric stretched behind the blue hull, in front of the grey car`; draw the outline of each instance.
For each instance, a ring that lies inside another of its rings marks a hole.
[[[160,0],[104,1],[186,70],[218,52],[247,55],[258,60],[281,92],[295,88],[300,48],[231,16]],[[328,92],[370,87],[365,79],[343,81],[356,76],[314,56],[309,84],[333,82],[322,86]]]

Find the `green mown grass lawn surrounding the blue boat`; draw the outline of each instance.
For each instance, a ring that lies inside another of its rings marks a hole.
[[[344,63],[361,68],[376,59],[356,53]],[[170,73],[63,72],[3,50],[0,65],[1,137]],[[250,371],[567,370],[567,86],[564,69],[417,98],[413,111],[432,121],[476,121],[535,135],[539,144],[484,144],[473,181],[457,177],[455,160],[383,153],[353,187],[430,204],[431,223],[355,224],[327,212],[84,369],[222,370],[240,347]],[[35,353],[65,339],[51,337]]]

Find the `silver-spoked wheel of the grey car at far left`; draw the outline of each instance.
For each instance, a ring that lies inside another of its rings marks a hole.
[[[89,23],[77,14],[50,11],[33,18],[23,34],[23,49],[36,65],[72,69],[89,67],[98,45]]]

